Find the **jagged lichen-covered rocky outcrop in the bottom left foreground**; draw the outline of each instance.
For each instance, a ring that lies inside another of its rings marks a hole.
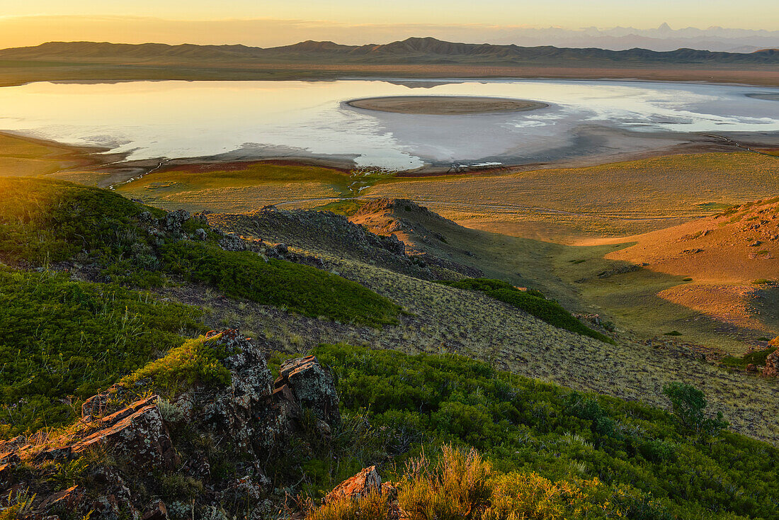
[[[169,400],[151,394],[128,403],[136,391],[155,389],[153,381],[143,381],[143,388],[115,385],[88,399],[83,418],[61,437],[0,442],[0,502],[30,490],[35,494],[30,518],[80,518],[91,511],[90,518],[111,520],[165,520],[168,511],[175,512],[171,518],[182,511],[189,518],[198,508],[261,503],[263,493],[272,490],[265,465],[271,455],[294,445],[305,412],[313,413],[322,436],[340,424],[333,380],[309,356],[284,363],[274,384],[256,341],[234,330],[212,331],[206,338],[215,351],[227,353],[221,362],[230,371],[227,386],[196,384],[168,395]],[[214,458],[216,447],[221,455]],[[101,454],[100,462],[93,454]],[[224,458],[232,461],[229,470],[217,471],[215,464],[224,466]],[[90,461],[86,471],[65,490],[52,488],[51,479],[33,470],[81,467],[81,461]],[[167,503],[171,483],[174,490],[196,486],[194,501]],[[144,501],[150,496],[166,502]]]

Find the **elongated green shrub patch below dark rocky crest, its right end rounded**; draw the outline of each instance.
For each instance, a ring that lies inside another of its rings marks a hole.
[[[389,299],[313,267],[196,242],[167,244],[162,258],[171,272],[234,297],[284,306],[309,317],[326,316],[375,327],[397,323],[399,308]]]

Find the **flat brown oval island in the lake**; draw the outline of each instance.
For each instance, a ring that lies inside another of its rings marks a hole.
[[[494,114],[537,110],[549,106],[540,101],[475,96],[367,97],[346,101],[345,104],[365,110],[420,115]]]

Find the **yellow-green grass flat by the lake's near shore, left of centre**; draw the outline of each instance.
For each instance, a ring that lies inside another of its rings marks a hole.
[[[313,207],[348,193],[349,175],[302,164],[182,166],[118,186],[125,196],[167,209],[237,213],[277,203]]]

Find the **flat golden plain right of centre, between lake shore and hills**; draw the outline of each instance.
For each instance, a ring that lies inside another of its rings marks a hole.
[[[509,175],[393,178],[365,195],[415,200],[468,227],[573,242],[666,228],[777,192],[776,158],[736,152]]]

